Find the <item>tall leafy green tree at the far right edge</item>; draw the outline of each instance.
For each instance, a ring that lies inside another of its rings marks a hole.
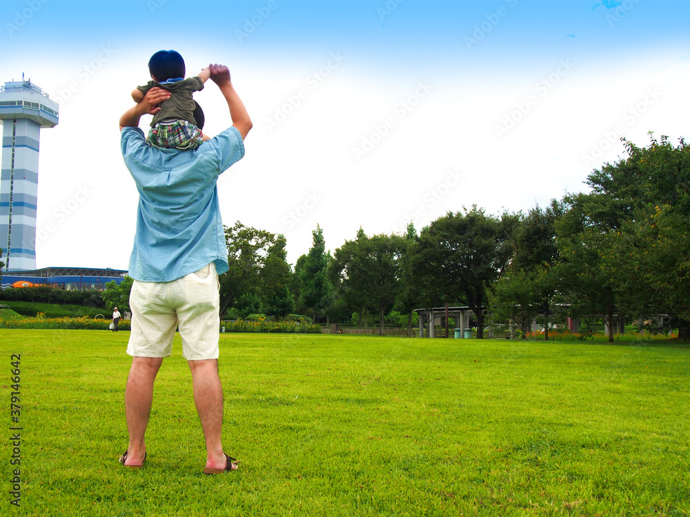
[[[589,176],[593,190],[627,212],[607,267],[621,305],[638,318],[669,314],[690,337],[690,148],[666,136],[646,148],[625,141],[628,157]]]

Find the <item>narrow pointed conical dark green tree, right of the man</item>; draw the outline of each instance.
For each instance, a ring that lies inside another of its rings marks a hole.
[[[324,231],[319,225],[312,232],[313,243],[299,272],[301,289],[299,301],[312,311],[313,322],[317,323],[319,314],[324,314],[328,305],[328,294],[332,287],[326,278],[328,259]]]

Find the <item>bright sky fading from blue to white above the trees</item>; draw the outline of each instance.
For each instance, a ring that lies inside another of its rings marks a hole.
[[[334,251],[472,205],[526,212],[586,192],[621,138],[690,136],[690,3],[670,0],[3,0],[0,83],[60,104],[41,130],[37,267],[128,267],[137,190],[119,116],[174,49],[228,65],[254,127],[221,175],[226,225],[322,227]],[[204,132],[231,125],[209,81]],[[141,119],[148,132],[150,117]]]

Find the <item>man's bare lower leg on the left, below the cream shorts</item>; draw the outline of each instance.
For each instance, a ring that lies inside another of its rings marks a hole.
[[[141,465],[146,457],[146,426],[153,403],[153,381],[163,363],[162,357],[132,357],[125,389],[125,416],[130,435],[125,465]]]

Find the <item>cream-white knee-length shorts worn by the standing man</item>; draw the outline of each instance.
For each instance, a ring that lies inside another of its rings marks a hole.
[[[132,334],[127,353],[135,357],[169,357],[179,325],[185,359],[217,359],[219,287],[213,263],[172,282],[135,280],[130,292]]]

